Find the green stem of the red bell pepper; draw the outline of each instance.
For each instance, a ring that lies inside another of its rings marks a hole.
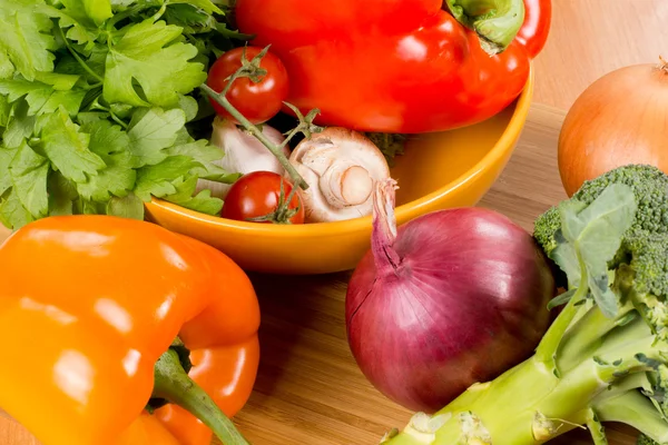
[[[452,16],[474,30],[491,56],[503,52],[524,23],[524,0],[445,0]]]

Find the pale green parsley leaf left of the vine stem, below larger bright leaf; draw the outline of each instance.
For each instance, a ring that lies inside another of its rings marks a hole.
[[[128,130],[132,165],[144,167],[165,160],[168,156],[165,149],[174,145],[185,123],[186,113],[178,108],[136,112]]]

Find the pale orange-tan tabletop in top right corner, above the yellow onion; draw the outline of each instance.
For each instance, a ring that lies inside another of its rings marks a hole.
[[[552,8],[534,63],[537,103],[568,110],[605,73],[668,58],[668,0],[552,0]]]

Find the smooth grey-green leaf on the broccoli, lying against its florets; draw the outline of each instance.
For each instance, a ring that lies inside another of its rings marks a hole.
[[[579,281],[573,270],[574,265],[580,264],[579,277],[583,275],[583,268],[587,285],[607,317],[613,317],[618,310],[617,296],[609,286],[608,261],[615,257],[625,231],[633,224],[636,211],[633,191],[621,184],[610,185],[589,206],[574,199],[559,206],[561,234],[552,257],[569,275],[569,281],[576,281],[576,278]]]

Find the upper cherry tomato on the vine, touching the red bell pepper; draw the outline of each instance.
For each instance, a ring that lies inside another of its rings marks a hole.
[[[250,61],[262,48],[246,47],[245,50],[245,58]],[[217,92],[223,91],[228,82],[226,79],[242,67],[243,53],[244,48],[235,48],[220,56],[212,65],[206,83]],[[267,71],[259,82],[255,83],[248,77],[237,78],[225,95],[234,108],[252,123],[262,123],[276,116],[288,93],[287,70],[277,56],[267,52],[259,61],[259,67]],[[218,102],[209,100],[218,116],[236,122]]]

